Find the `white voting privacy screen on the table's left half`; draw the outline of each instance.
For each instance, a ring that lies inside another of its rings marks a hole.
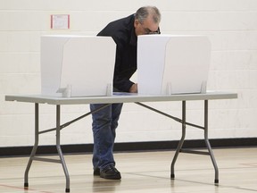
[[[111,96],[115,54],[111,37],[42,36],[41,94]]]

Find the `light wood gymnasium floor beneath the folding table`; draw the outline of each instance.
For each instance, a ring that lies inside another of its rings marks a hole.
[[[179,154],[175,180],[170,180],[174,151],[117,153],[121,180],[104,180],[92,175],[92,155],[64,155],[70,173],[70,192],[122,193],[241,193],[257,192],[257,147],[213,149],[220,170],[220,184],[214,185],[209,156]],[[47,156],[49,157],[49,156]],[[50,156],[51,158],[54,156]],[[61,164],[34,161],[29,171],[29,189],[23,189],[23,175],[29,157],[0,158],[0,192],[65,192]]]

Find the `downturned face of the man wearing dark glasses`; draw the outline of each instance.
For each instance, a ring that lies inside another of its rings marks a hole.
[[[159,23],[155,23],[151,15],[149,15],[143,23],[138,20],[134,21],[136,36],[145,34],[155,34],[158,33]]]

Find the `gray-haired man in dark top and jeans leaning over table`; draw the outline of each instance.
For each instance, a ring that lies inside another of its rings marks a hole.
[[[116,60],[113,90],[137,93],[137,84],[130,77],[137,71],[137,36],[160,34],[161,13],[154,6],[145,6],[137,13],[109,23],[97,36],[112,37],[116,43]],[[95,111],[103,104],[90,105]],[[115,130],[118,126],[122,104],[112,104],[92,114],[94,152],[94,175],[104,179],[120,180],[120,172],[115,168],[112,149]]]

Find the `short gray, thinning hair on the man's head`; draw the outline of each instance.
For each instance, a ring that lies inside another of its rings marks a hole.
[[[155,23],[159,23],[161,21],[161,13],[155,6],[140,7],[135,14],[135,19],[140,23],[143,23],[149,14],[152,15]]]

